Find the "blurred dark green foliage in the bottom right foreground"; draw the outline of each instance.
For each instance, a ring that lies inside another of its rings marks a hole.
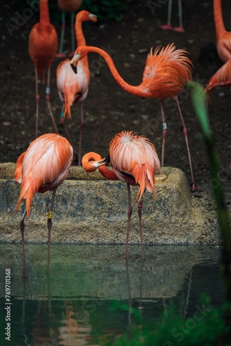
[[[201,296],[194,313],[188,318],[176,313],[172,305],[160,313],[158,320],[150,318],[148,324],[142,322],[142,309],[138,307],[112,302],[112,309],[118,312],[118,318],[123,311],[129,311],[132,322],[128,331],[117,340],[107,340],[107,346],[231,345],[231,328],[225,323],[230,303],[214,308],[207,295]]]

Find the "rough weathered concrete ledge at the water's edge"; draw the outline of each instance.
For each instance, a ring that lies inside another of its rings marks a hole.
[[[0,172],[0,242],[19,242],[24,203],[14,215],[20,190],[13,180],[15,164],[0,165]],[[203,199],[196,201],[192,197],[185,174],[173,167],[164,167],[162,174],[167,179],[157,181],[156,201],[149,192],[142,199],[145,244],[219,244],[215,211],[211,215]],[[132,187],[131,191],[134,201],[137,188]],[[47,241],[46,210],[50,197],[49,192],[35,195],[30,219],[26,219],[26,242]],[[124,244],[126,230],[126,184],[102,179],[98,172],[86,174],[82,167],[71,167],[68,179],[57,190],[52,242]],[[140,242],[135,204],[129,239],[131,244]]]

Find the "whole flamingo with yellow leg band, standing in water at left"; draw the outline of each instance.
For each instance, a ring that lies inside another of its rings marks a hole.
[[[50,209],[48,211],[48,265],[50,257],[50,230],[52,226],[55,192],[66,179],[69,167],[73,161],[73,147],[68,140],[59,134],[44,134],[30,143],[26,152],[23,152],[16,163],[15,181],[21,184],[19,201],[15,213],[19,209],[22,199],[26,199],[26,208],[20,221],[21,241],[24,258],[24,274],[26,277],[24,219],[30,217],[30,207],[35,192],[52,191]]]

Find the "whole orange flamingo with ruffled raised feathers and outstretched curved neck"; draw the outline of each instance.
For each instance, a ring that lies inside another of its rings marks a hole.
[[[187,57],[184,49],[176,49],[174,44],[168,44],[163,48],[156,48],[153,52],[153,48],[147,56],[145,71],[142,75],[142,82],[138,86],[132,86],[125,82],[111,59],[110,55],[98,47],[93,46],[79,46],[73,59],[71,60],[71,66],[73,71],[77,73],[77,64],[83,57],[89,52],[98,53],[107,62],[109,69],[116,82],[125,91],[138,95],[144,98],[158,98],[160,100],[160,109],[163,119],[163,145],[162,145],[162,158],[161,165],[164,165],[165,156],[165,138],[167,134],[167,125],[165,121],[165,112],[163,109],[164,98],[174,98],[178,107],[178,113],[180,114],[183,124],[183,133],[185,136],[185,142],[187,146],[187,154],[190,163],[190,172],[192,176],[192,184],[190,189],[192,192],[201,191],[194,181],[194,174],[192,170],[192,161],[190,155],[190,147],[187,140],[187,128],[183,120],[181,113],[181,107],[178,102],[178,94],[182,91],[185,84],[192,79],[192,62]]]

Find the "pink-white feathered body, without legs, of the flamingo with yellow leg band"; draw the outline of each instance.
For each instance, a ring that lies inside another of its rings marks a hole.
[[[20,158],[20,156],[19,156]],[[57,134],[44,134],[28,147],[21,165],[21,199],[26,198],[27,214],[35,192],[46,192],[59,186],[68,174],[73,161],[73,148],[66,138]]]

